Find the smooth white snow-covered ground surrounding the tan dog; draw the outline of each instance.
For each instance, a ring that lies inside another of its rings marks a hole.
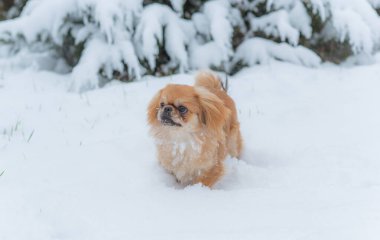
[[[380,239],[380,64],[230,80],[245,149],[215,189],[160,168],[146,106],[192,75],[67,92],[0,70],[0,239]]]

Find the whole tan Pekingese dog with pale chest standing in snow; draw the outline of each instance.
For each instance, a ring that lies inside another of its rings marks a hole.
[[[161,89],[148,106],[148,123],[160,164],[184,185],[213,186],[227,154],[241,153],[235,103],[212,73],[199,73],[194,86]]]

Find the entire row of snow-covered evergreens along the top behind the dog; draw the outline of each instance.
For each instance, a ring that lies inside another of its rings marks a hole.
[[[2,7],[22,12],[0,23],[0,54],[43,54],[37,65],[71,71],[76,90],[273,60],[313,67],[380,46],[379,0],[12,1]]]

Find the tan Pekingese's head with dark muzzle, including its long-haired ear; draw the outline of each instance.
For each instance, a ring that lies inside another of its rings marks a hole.
[[[208,90],[187,85],[169,84],[161,89],[148,106],[152,127],[195,131],[206,127],[221,128],[228,109]]]

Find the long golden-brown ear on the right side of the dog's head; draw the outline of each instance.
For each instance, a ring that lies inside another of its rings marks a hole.
[[[203,87],[195,87],[195,92],[201,106],[201,121],[213,131],[220,131],[223,128],[230,110],[224,106],[223,101],[215,94]]]

